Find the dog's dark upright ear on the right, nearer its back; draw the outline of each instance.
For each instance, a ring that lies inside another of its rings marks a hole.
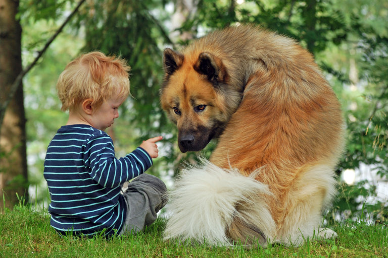
[[[226,68],[221,59],[209,52],[202,52],[193,68],[198,73],[206,75],[214,85],[227,79]]]

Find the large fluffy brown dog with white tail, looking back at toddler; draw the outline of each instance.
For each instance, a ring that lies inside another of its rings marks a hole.
[[[165,238],[301,244],[334,194],[344,143],[340,104],[312,55],[255,26],[164,51],[161,105],[182,152],[219,138],[210,162],[182,171]],[[319,230],[319,232],[318,232]]]

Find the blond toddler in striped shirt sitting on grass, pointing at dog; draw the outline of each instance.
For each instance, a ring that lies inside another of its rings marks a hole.
[[[129,95],[129,70],[124,59],[93,51],[71,61],[59,76],[58,96],[69,118],[47,148],[43,175],[51,195],[50,224],[61,234],[136,233],[153,223],[167,202],[163,181],[143,174],[158,157],[162,137],[117,159],[104,132]]]

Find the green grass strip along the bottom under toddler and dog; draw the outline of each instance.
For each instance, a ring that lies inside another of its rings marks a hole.
[[[251,250],[166,242],[164,225],[158,219],[135,236],[110,240],[61,237],[50,227],[49,215],[19,205],[0,214],[0,257],[388,257],[388,228],[381,224],[346,221],[334,227],[335,240]]]

